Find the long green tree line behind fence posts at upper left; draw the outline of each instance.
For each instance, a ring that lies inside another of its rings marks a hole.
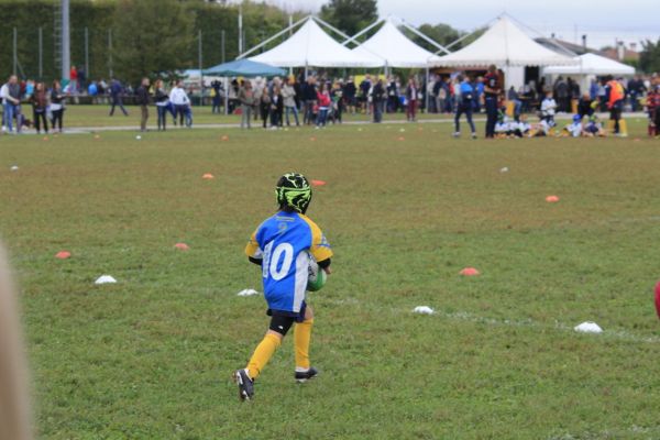
[[[18,74],[61,77],[58,9],[59,0],[0,0],[1,78],[14,68],[14,29]],[[277,7],[245,1],[242,13],[245,48],[288,25],[289,13]],[[293,15],[299,20],[305,13]],[[70,59],[79,68],[89,66],[88,78],[108,79],[112,73],[135,82],[144,75],[198,67],[201,33],[202,64],[209,67],[239,55],[238,22],[237,4],[204,0],[72,0]]]

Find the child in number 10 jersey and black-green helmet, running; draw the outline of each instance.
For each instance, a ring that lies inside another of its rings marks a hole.
[[[254,380],[294,323],[294,377],[301,383],[318,374],[309,363],[314,311],[305,302],[305,292],[310,261],[316,260],[319,270],[330,274],[332,251],[319,227],[305,216],[311,201],[311,187],[305,176],[285,174],[277,182],[275,195],[279,210],[256,229],[245,248],[250,262],[262,267],[271,324],[248,366],[234,373],[242,400],[253,398]]]

